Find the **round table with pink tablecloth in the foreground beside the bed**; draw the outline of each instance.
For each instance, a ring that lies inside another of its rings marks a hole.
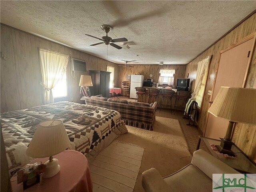
[[[60,172],[51,178],[42,178],[43,184],[35,184],[23,190],[16,176],[11,178],[13,192],[92,192],[92,180],[86,157],[74,150],[65,150],[53,158],[58,159]],[[46,162],[49,158],[37,158],[30,163]]]

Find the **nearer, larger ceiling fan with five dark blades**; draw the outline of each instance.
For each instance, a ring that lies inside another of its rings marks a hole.
[[[100,42],[100,43],[96,43],[96,44],[92,44],[90,46],[94,46],[94,45],[99,45],[99,44],[102,44],[102,43],[105,43],[105,45],[111,45],[113,46],[114,48],[117,48],[117,49],[122,49],[121,46],[118,46],[117,44],[114,44],[115,42],[124,42],[124,41],[128,41],[126,38],[117,38],[117,39],[112,39],[111,37],[108,36],[108,32],[110,32],[111,30],[113,30],[113,27],[112,26],[109,26],[109,25],[102,25],[100,26],[100,28],[102,30],[104,30],[106,32],[106,36],[103,36],[102,38],[98,38],[98,37],[94,37],[92,35],[89,35],[89,34],[86,34],[90,37],[93,37],[93,38],[96,38],[98,40],[102,40],[103,42]]]

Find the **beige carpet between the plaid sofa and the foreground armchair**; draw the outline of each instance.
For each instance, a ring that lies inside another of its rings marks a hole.
[[[126,127],[128,133],[119,136],[117,140],[145,148],[134,192],[144,192],[141,185],[144,170],[154,167],[162,176],[168,176],[190,163],[192,156],[178,120],[156,117],[153,131]]]

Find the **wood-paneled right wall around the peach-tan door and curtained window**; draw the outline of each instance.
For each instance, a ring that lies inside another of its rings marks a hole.
[[[218,68],[218,56],[221,50],[228,48],[232,44],[240,41],[242,38],[256,32],[256,14],[250,16],[247,20],[242,22],[234,30],[224,36],[221,40],[216,42],[213,46],[208,48],[197,58],[192,60],[186,67],[186,73],[189,73],[190,81],[196,78],[197,63],[206,58],[208,55],[212,55],[212,61],[210,63],[209,74],[206,83],[206,91],[204,93],[204,99],[198,118],[198,127],[205,133],[206,123],[208,118],[208,108],[210,96],[207,94],[208,90],[212,90],[214,76]],[[252,53],[252,62],[247,75],[246,88],[256,88],[256,51]],[[238,71],[239,73],[239,71]],[[234,77],[235,78],[235,77]],[[192,85],[194,89],[194,86]],[[192,90],[193,90],[192,89]],[[256,126],[249,126],[246,124],[237,124],[233,142],[235,142],[240,149],[242,149],[251,159],[256,160]]]

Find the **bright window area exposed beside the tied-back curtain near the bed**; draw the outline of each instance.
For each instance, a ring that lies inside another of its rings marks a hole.
[[[53,98],[68,96],[67,70],[60,76],[58,83],[52,88]]]

